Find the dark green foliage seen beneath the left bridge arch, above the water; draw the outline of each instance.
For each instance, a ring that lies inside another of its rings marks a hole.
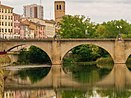
[[[20,54],[18,55],[18,62],[20,64],[51,63],[48,55],[43,50],[41,50],[40,48],[37,48],[36,46],[31,46],[28,51],[25,48],[22,49],[20,51]]]

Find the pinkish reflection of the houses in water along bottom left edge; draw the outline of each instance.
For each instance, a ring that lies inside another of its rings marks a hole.
[[[55,95],[53,90],[7,90],[4,98],[52,98]]]

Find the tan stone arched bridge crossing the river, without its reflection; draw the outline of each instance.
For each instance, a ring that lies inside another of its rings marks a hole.
[[[43,40],[1,40],[0,51],[19,45],[37,46],[47,53],[52,65],[61,65],[66,53],[76,46],[92,44],[106,50],[115,64],[126,63],[131,54],[131,39],[43,39]]]

